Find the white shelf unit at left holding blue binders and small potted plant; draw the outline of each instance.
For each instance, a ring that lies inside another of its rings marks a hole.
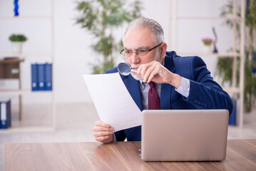
[[[51,26],[50,28],[50,38],[49,40],[51,40],[51,50],[50,51],[38,51],[38,52],[30,52],[31,49],[29,49],[28,52],[26,53],[19,53],[19,54],[14,54],[14,53],[10,53],[9,51],[4,51],[4,52],[0,52],[0,58],[6,58],[6,57],[17,57],[17,58],[24,58],[24,60],[26,61],[27,58],[43,58],[46,61],[50,60],[52,63],[52,90],[51,91],[32,91],[31,88],[22,88],[21,86],[21,81],[22,78],[21,76],[19,77],[19,88],[16,90],[8,90],[8,89],[4,89],[4,90],[0,90],[0,95],[18,95],[19,96],[19,121],[21,122],[22,120],[22,115],[23,115],[23,111],[22,111],[22,105],[24,105],[22,103],[22,96],[24,95],[49,95],[51,97],[51,125],[23,125],[23,124],[16,124],[16,126],[11,125],[11,128],[8,128],[6,130],[4,129],[0,129],[0,133],[22,133],[22,132],[45,132],[45,131],[53,131],[56,128],[56,105],[55,105],[55,99],[54,99],[54,0],[49,1],[49,5],[51,6],[51,14],[50,15],[22,15],[20,14],[20,16],[0,16],[0,24],[1,21],[10,21],[10,22],[18,22],[18,21],[26,21],[30,22],[29,24],[31,24],[31,26],[33,26],[35,21],[41,21],[44,20],[46,22],[48,22],[49,26]],[[12,2],[11,2],[12,3]],[[22,1],[19,1],[19,3],[23,3]],[[20,7],[21,8],[21,7]],[[11,9],[10,9],[11,10]],[[20,23],[19,23],[20,24]],[[1,26],[4,26],[4,24]],[[19,27],[22,27],[22,25],[19,25]],[[26,29],[33,29],[33,28],[26,28]],[[34,45],[36,46],[36,45]],[[40,60],[39,60],[40,61]],[[31,67],[31,63],[29,65],[29,67]],[[22,74],[22,70],[24,68],[20,67],[19,70],[19,74]],[[26,70],[28,71],[28,68],[26,68]],[[29,74],[26,75],[26,77],[31,77],[31,68],[29,68]],[[31,84],[31,83],[30,83]]]

